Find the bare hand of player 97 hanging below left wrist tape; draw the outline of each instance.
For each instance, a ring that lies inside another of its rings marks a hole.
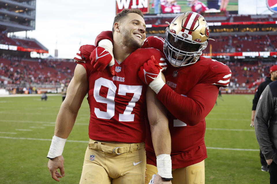
[[[62,178],[65,176],[63,164],[64,164],[64,159],[62,155],[57,156],[52,160],[49,159],[48,161],[48,169],[50,171],[51,177],[56,181],[60,181],[59,178]],[[61,173],[58,173],[58,170],[57,170],[58,168],[60,169]]]

